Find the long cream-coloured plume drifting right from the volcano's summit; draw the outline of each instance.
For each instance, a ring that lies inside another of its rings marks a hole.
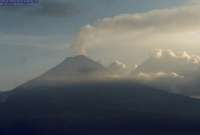
[[[104,18],[81,28],[72,48],[84,52],[106,50],[106,55],[133,56],[141,50],[148,55],[155,48],[196,51],[200,30],[200,4],[188,4],[145,13]],[[110,51],[108,51],[110,49]],[[140,56],[140,54],[139,54]],[[138,57],[139,57],[138,56]]]

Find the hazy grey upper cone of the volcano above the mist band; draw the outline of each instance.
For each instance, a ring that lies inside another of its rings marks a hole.
[[[106,74],[107,70],[103,65],[84,55],[79,55],[66,58],[61,64],[21,87],[84,82],[103,78]]]

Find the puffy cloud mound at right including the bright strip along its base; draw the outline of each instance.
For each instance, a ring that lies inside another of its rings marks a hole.
[[[179,78],[193,80],[199,75],[200,56],[186,51],[156,49],[152,55],[136,70],[132,76],[140,80],[158,80],[163,78]]]

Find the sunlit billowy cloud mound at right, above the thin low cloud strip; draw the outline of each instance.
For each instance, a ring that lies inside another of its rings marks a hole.
[[[200,69],[200,56],[170,49],[156,49],[151,56],[136,68],[133,74],[140,72],[175,72],[184,76],[191,76]]]

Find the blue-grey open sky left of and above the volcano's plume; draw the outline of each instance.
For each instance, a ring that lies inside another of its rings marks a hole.
[[[40,0],[29,7],[0,7],[0,90],[14,88],[70,56],[72,37],[84,25],[124,13],[176,7],[185,1]],[[101,54],[94,50],[91,57],[101,60]]]

